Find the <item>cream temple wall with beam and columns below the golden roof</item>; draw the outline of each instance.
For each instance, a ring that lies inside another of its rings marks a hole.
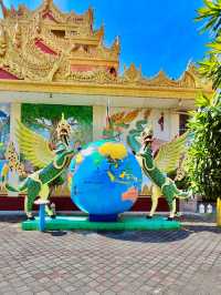
[[[14,142],[18,151],[19,146],[15,139],[15,128],[17,122],[21,120],[22,103],[92,105],[94,141],[99,140],[103,136],[103,130],[106,126],[108,104],[110,115],[119,112],[125,112],[126,114],[137,109],[140,110],[137,118],[129,122],[129,128],[124,130],[122,135],[124,142],[126,142],[127,132],[136,128],[136,122],[144,119],[146,111],[149,111],[147,120],[152,125],[154,138],[159,140],[159,144],[165,141],[170,141],[179,134],[179,114],[172,111],[177,103],[175,99],[159,100],[126,96],[107,98],[106,95],[0,92],[0,104],[2,103],[10,103],[10,141]],[[190,102],[187,102],[187,106],[188,103]],[[160,126],[159,124],[161,116],[164,116],[164,126]],[[10,173],[9,181],[12,185],[18,185],[18,176],[14,173]],[[10,195],[14,196],[17,194],[10,193]]]

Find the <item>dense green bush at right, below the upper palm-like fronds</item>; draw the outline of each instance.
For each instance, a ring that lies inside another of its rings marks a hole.
[[[189,128],[194,140],[188,151],[188,175],[194,192],[215,200],[221,196],[221,100],[201,95]]]

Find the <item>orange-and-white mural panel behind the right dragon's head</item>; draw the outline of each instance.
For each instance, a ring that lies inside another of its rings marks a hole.
[[[109,110],[109,122],[104,129],[103,135],[106,138],[114,136],[116,140],[123,141],[127,144],[127,135],[131,130],[137,129],[137,122],[145,120],[150,123],[154,129],[154,143],[152,153],[167,141],[171,140],[170,134],[170,114],[169,112],[162,112],[160,110],[150,109],[129,109],[129,108],[110,108]],[[178,131],[179,132],[179,131]],[[129,146],[128,146],[129,148]],[[147,176],[143,175],[143,190],[141,195],[149,195],[150,182]]]

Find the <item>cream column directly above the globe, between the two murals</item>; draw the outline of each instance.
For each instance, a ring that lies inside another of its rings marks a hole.
[[[106,106],[93,106],[93,141],[101,140],[106,126]]]

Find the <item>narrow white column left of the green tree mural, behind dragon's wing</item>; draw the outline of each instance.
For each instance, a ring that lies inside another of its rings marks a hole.
[[[10,142],[14,143],[15,150],[19,153],[19,144],[15,138],[15,129],[18,126],[18,121],[21,121],[21,103],[12,102],[10,105]],[[19,176],[17,173],[9,173],[9,183],[15,187],[19,185]],[[8,195],[18,196],[18,193],[8,192]]]

